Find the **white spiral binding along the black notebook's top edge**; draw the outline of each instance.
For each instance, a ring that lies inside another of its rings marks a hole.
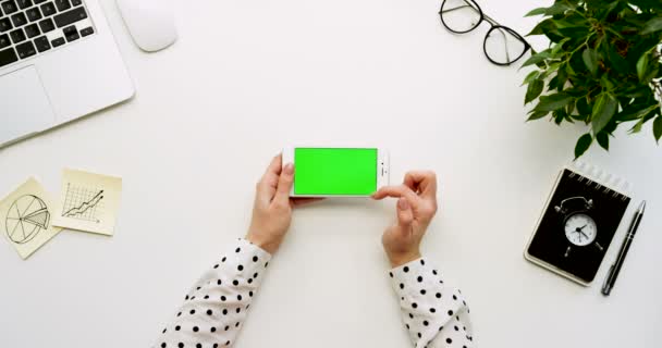
[[[623,201],[629,198],[633,185],[618,176],[581,161],[574,162],[567,169],[571,171],[569,177],[577,177],[579,183],[586,182],[587,186],[594,185],[596,190],[602,190],[604,195],[612,195]]]

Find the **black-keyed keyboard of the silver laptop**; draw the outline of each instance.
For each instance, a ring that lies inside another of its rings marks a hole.
[[[0,67],[94,33],[83,0],[0,0]]]

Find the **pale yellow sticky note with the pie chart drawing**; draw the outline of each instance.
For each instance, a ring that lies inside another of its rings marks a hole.
[[[51,224],[56,211],[50,195],[30,177],[0,201],[0,232],[27,259],[62,228]]]

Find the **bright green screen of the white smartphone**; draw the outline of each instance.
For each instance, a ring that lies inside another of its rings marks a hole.
[[[295,195],[371,195],[377,149],[294,149]]]

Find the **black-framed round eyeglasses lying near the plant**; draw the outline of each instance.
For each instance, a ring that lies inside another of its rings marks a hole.
[[[488,22],[492,28],[485,36],[482,50],[490,62],[497,65],[510,65],[531,48],[522,35],[482,13],[474,0],[444,0],[439,16],[443,26],[455,34],[469,33],[482,21]]]

